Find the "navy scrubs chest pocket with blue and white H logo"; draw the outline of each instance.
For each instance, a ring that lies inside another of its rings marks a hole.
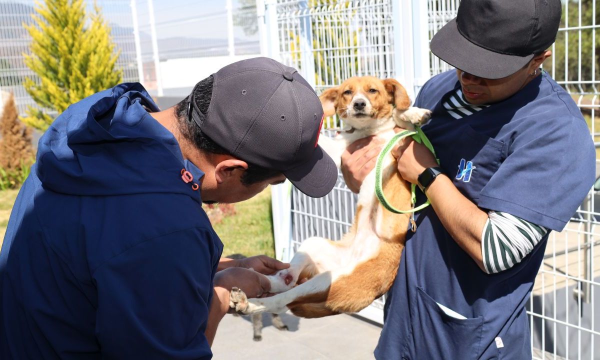
[[[452,154],[454,173],[449,173],[454,185],[470,199],[478,199],[482,188],[502,164],[505,144],[480,134],[469,125],[463,127],[458,146]]]

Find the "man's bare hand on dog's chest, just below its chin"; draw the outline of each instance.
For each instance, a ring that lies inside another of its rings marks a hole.
[[[354,193],[361,190],[362,181],[375,167],[382,148],[382,139],[369,136],[351,143],[341,155],[341,173],[346,186]]]

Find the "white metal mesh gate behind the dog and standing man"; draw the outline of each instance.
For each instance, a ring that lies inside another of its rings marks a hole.
[[[317,93],[347,77],[369,74],[397,78],[414,98],[425,80],[451,68],[428,51],[428,41],[456,16],[458,4],[458,0],[258,1],[262,52],[298,68]],[[553,56],[544,69],[580,106],[596,141],[600,136],[596,1],[569,0],[563,6]],[[334,127],[337,119],[326,124]],[[596,311],[600,297],[595,295],[600,286],[600,214],[595,199],[592,189],[565,230],[548,239],[527,311],[534,359],[600,359],[600,311]],[[356,196],[341,175],[322,199],[307,197],[289,183],[278,185],[273,190],[277,256],[290,259],[310,236],[340,239],[352,223],[355,205]],[[382,322],[382,304],[378,299],[361,314]]]

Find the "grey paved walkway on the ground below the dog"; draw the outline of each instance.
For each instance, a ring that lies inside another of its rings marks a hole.
[[[381,328],[349,315],[300,319],[282,314],[289,331],[263,314],[262,341],[253,341],[250,317],[226,315],[212,345],[215,360],[372,360]]]

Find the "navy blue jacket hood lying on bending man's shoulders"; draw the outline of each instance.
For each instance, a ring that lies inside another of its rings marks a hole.
[[[71,105],[40,139],[38,178],[63,194],[181,193],[200,201],[192,185],[203,173],[184,161],[173,134],[148,113],[158,110],[139,83],[122,83]],[[182,179],[182,169],[192,182]]]

